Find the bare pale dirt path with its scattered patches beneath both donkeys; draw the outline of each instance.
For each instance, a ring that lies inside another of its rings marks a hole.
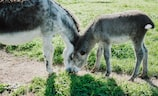
[[[55,72],[60,72],[63,69],[64,68],[61,66],[54,66]],[[83,75],[86,73],[90,72],[82,70],[78,74]],[[27,57],[16,57],[0,50],[0,83],[21,85],[29,83],[34,77],[47,78],[47,76],[48,73],[46,72],[45,64],[43,62],[31,60]],[[112,73],[112,77],[118,80],[128,80],[130,78],[128,75],[118,75],[115,73]],[[153,86],[158,86],[158,79],[156,78],[150,78],[150,80],[147,81],[137,78],[135,82],[148,82]]]

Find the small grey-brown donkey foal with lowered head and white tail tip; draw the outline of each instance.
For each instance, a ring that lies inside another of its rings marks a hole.
[[[136,54],[136,65],[130,80],[138,75],[140,63],[143,60],[142,77],[147,77],[148,52],[144,44],[144,36],[148,29],[154,28],[151,19],[140,11],[126,11],[123,13],[104,15],[95,20],[85,34],[75,45],[72,62],[81,67],[88,53],[96,43],[99,43],[95,68],[99,67],[102,51],[106,60],[106,76],[111,73],[110,52],[111,44],[131,40]]]

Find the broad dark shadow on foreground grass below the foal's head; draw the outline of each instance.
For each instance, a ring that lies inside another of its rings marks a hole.
[[[125,93],[113,78],[96,79],[89,74],[70,75],[71,96],[124,96]]]

